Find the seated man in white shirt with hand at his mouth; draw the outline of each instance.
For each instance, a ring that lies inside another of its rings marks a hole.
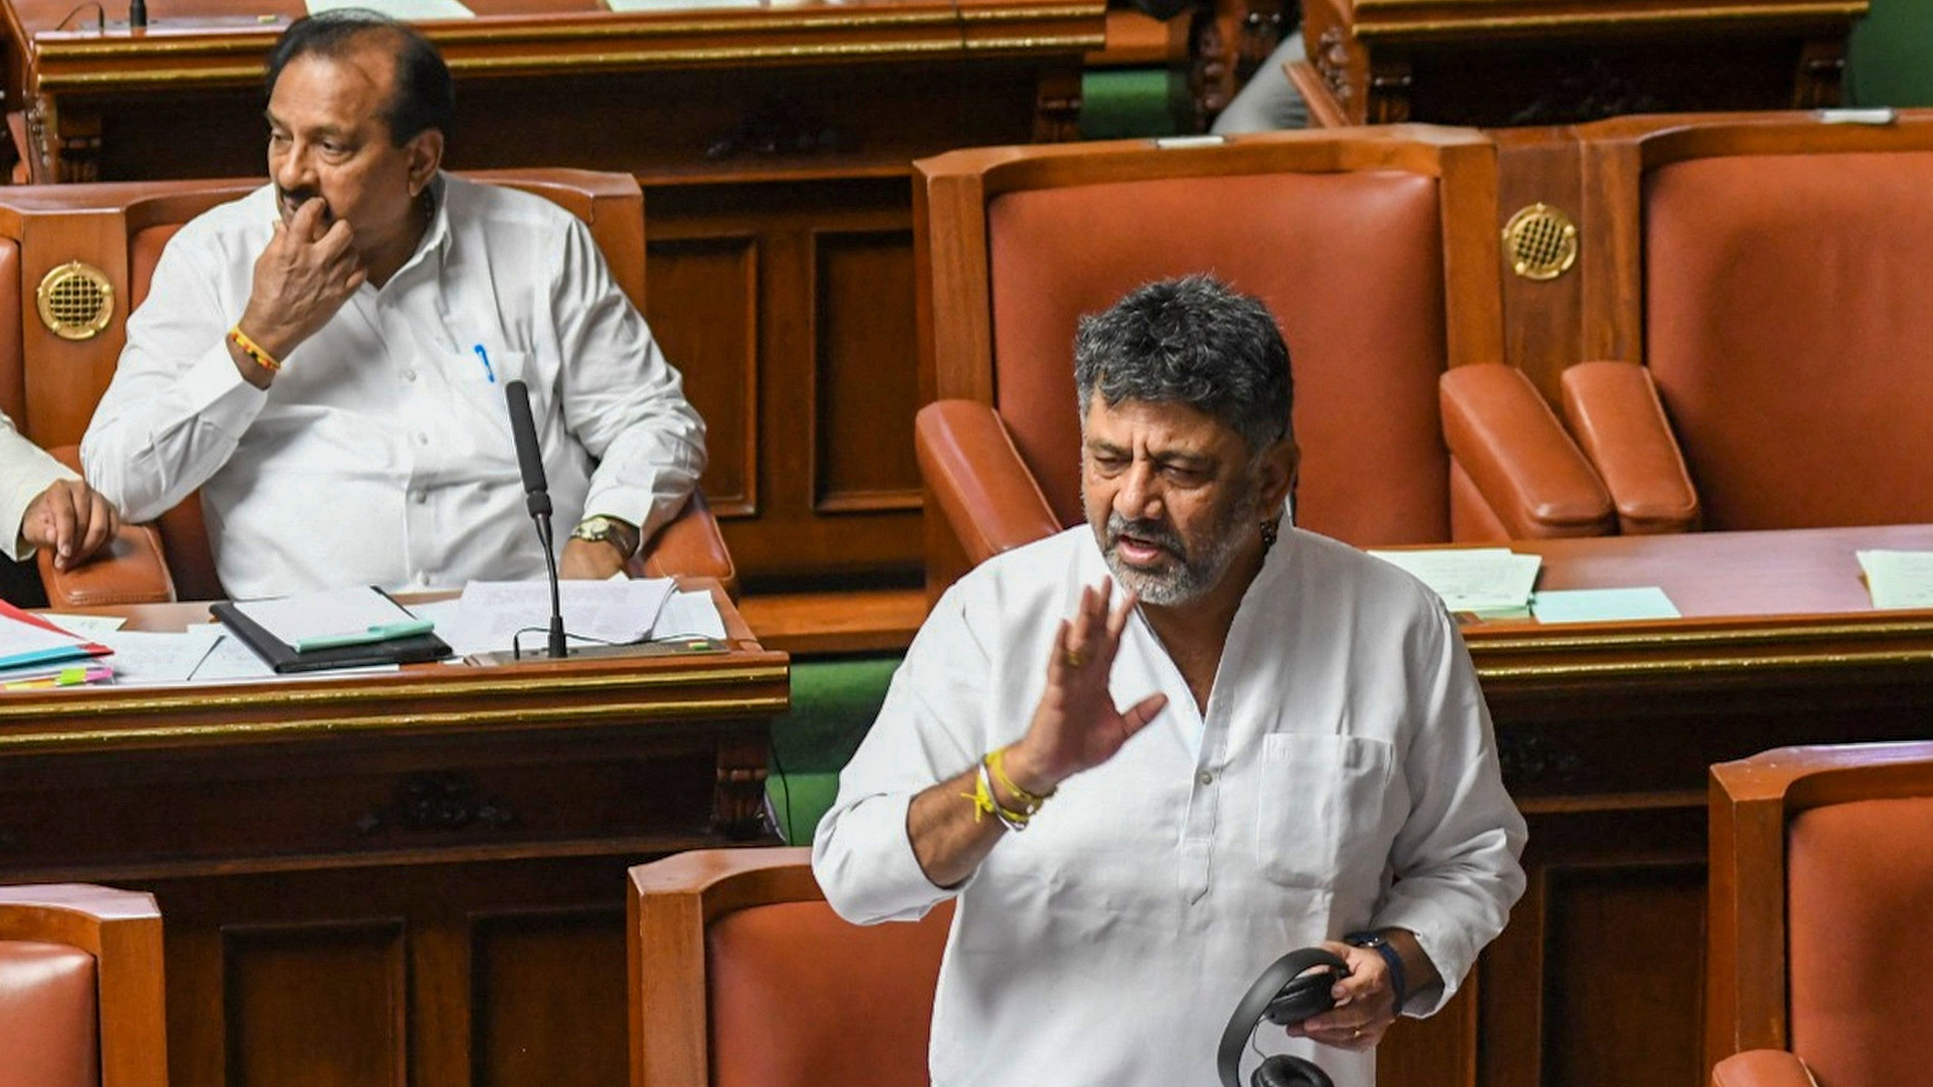
[[[696,485],[704,423],[590,230],[441,174],[450,73],[402,23],[298,19],[267,83],[271,183],[168,241],[87,477],[137,521],[199,487],[238,599],[541,577],[522,380],[578,525],[561,573],[619,571]]]

